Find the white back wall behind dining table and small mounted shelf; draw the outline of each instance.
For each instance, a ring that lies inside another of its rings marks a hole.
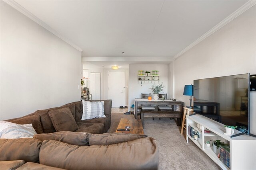
[[[149,88],[153,83],[138,83],[138,70],[158,70],[159,84],[163,82],[164,91],[161,93],[168,93],[168,64],[129,64],[129,104],[128,108],[134,104],[135,98],[141,98],[142,93],[151,93]],[[156,83],[157,85],[157,83]],[[168,96],[168,98],[170,98]]]

